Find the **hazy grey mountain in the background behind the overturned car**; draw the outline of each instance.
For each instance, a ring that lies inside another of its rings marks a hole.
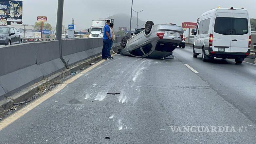
[[[109,17],[107,17],[109,18]],[[109,19],[114,19],[114,29],[115,31],[118,31],[119,27],[127,27],[127,30],[129,30],[130,28],[130,15],[125,14],[125,13],[120,13],[120,14],[115,14],[110,16]],[[138,19],[138,25],[141,27],[145,27],[145,23],[144,21]],[[137,17],[136,16],[132,16],[132,25],[131,25],[131,30],[134,30],[137,27]]]

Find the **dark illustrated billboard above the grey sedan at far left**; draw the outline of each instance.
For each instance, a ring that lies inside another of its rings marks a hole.
[[[1,20],[22,22],[22,1],[0,0]]]

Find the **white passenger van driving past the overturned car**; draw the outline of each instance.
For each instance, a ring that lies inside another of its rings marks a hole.
[[[193,57],[203,61],[216,58],[242,63],[250,54],[251,29],[246,9],[217,8],[203,13],[194,33]]]

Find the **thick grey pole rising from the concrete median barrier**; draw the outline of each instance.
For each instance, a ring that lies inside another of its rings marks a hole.
[[[65,60],[62,57],[62,49],[61,49],[63,5],[64,5],[64,0],[58,0],[57,24],[56,24],[56,40],[59,41],[59,49],[60,49],[61,61],[65,64],[65,66],[67,66],[67,63],[65,62]]]

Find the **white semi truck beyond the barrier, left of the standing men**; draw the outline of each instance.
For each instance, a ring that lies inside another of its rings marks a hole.
[[[88,29],[89,38],[102,38],[105,24],[105,21],[92,20],[92,26]]]

